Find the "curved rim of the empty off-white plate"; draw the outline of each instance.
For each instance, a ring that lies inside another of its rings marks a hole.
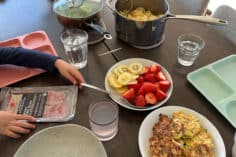
[[[45,132],[45,131],[48,131],[48,130],[53,130],[53,129],[57,129],[57,128],[63,128],[63,127],[77,127],[79,129],[82,129],[84,131],[86,131],[89,135],[91,135],[94,139],[97,140],[97,143],[98,145],[101,147],[102,151],[104,152],[104,157],[107,157],[107,152],[102,144],[102,142],[97,138],[97,136],[91,131],[89,130],[88,128],[82,126],[82,125],[78,125],[78,124],[63,124],[63,125],[57,125],[57,126],[52,126],[52,127],[47,127],[47,128],[44,128],[38,132],[36,132],[35,134],[33,134],[31,137],[29,137],[27,140],[25,140],[21,145],[20,147],[16,150],[16,152],[14,153],[14,156],[13,157],[18,157],[17,156],[17,153],[34,137],[38,136],[39,134]]]

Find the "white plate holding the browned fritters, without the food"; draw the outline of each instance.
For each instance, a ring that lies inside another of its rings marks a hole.
[[[200,113],[197,113],[185,107],[167,106],[167,107],[161,107],[149,113],[148,116],[143,120],[140,126],[138,143],[139,143],[139,150],[141,152],[142,157],[150,157],[149,138],[152,136],[153,125],[159,120],[159,114],[162,113],[162,114],[171,116],[174,112],[177,112],[177,111],[183,111],[187,114],[192,114],[198,117],[200,120],[201,126],[207,129],[207,132],[210,133],[210,135],[213,138],[213,143],[215,146],[214,156],[215,157],[226,156],[225,145],[224,145],[224,142],[220,133],[218,132],[216,127],[206,117],[204,117]]]

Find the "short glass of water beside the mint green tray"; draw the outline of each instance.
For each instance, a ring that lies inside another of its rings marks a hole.
[[[194,34],[183,34],[178,37],[178,62],[191,66],[205,46],[201,37]]]

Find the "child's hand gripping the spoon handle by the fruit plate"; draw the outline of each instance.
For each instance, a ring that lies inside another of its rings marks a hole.
[[[81,82],[85,82],[80,72],[75,67],[63,61],[62,59],[56,60],[55,67],[58,69],[61,75],[70,80],[73,84],[80,84]]]

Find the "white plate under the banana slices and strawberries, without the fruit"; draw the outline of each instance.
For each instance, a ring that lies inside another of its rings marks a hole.
[[[105,76],[105,88],[106,88],[107,91],[116,92],[114,89],[112,89],[112,87],[108,83],[108,80],[107,80],[108,74],[111,73],[119,65],[128,65],[128,64],[134,63],[134,62],[142,63],[144,66],[150,66],[150,65],[154,65],[154,64],[159,64],[157,62],[154,62],[154,61],[151,61],[151,60],[148,60],[148,59],[144,59],[144,58],[125,59],[125,60],[122,60],[122,61],[116,63],[115,65],[113,65],[108,70],[108,72],[106,73],[106,76]],[[158,102],[156,105],[153,105],[153,106],[150,106],[150,107],[147,107],[147,108],[135,108],[135,107],[130,107],[130,106],[126,105],[124,101],[122,101],[121,99],[119,99],[116,96],[110,95],[111,99],[114,100],[119,105],[125,107],[125,108],[131,109],[131,110],[136,110],[136,111],[147,111],[147,110],[153,110],[153,109],[155,109],[157,107],[160,107],[161,105],[163,105],[170,98],[171,93],[173,91],[173,81],[172,81],[172,78],[171,78],[170,74],[168,73],[168,71],[163,66],[161,66],[161,71],[165,74],[165,76],[167,77],[167,79],[171,83],[170,89],[167,92],[167,97],[166,97],[165,100],[163,100],[161,102]]]

